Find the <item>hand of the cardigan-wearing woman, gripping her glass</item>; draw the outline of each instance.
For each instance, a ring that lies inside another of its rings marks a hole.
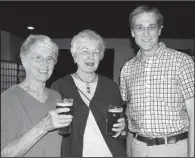
[[[116,132],[116,134],[112,137],[118,137],[125,129],[125,118],[118,119],[118,123],[113,125],[112,131]]]

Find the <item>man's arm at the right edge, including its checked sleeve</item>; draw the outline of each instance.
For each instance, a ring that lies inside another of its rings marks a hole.
[[[194,156],[194,61],[188,55],[181,60],[178,83],[189,118],[188,156]]]

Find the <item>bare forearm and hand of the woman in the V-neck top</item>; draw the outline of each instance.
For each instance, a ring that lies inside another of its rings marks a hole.
[[[9,142],[1,149],[2,157],[23,156],[37,141],[39,141],[48,131],[56,128],[68,126],[72,120],[70,115],[58,115],[61,112],[69,111],[67,108],[60,108],[50,111],[37,125],[28,132]]]

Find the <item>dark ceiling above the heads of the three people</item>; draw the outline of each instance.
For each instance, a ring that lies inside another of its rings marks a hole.
[[[150,4],[164,15],[162,38],[195,38],[194,1],[32,1],[0,2],[1,28],[26,38],[30,33],[72,38],[92,29],[104,38],[131,38],[129,13]],[[36,29],[29,31],[26,26]]]

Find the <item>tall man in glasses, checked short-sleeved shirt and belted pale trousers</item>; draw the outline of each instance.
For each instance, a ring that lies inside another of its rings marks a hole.
[[[140,50],[121,69],[121,94],[128,102],[128,156],[194,156],[194,62],[158,42],[163,15],[137,7],[129,17]]]

